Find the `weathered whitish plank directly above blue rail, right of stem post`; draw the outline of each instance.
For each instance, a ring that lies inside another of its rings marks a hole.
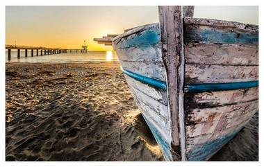
[[[258,66],[185,64],[185,83],[224,83],[258,80]]]

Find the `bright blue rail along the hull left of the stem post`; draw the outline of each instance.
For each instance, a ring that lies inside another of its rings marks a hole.
[[[142,76],[138,73],[133,73],[133,72],[128,71],[126,69],[122,69],[122,71],[124,73],[126,73],[126,75],[130,76],[131,78],[134,78],[135,80],[138,80],[138,81],[143,82],[145,84],[151,85],[153,87],[157,87],[159,89],[166,89],[166,82],[164,82],[163,80],[156,80],[153,78]]]

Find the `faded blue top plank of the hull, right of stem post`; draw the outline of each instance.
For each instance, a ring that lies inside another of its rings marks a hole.
[[[203,44],[254,44],[258,45],[258,33],[239,33],[217,28],[187,28],[186,42],[199,41]]]

